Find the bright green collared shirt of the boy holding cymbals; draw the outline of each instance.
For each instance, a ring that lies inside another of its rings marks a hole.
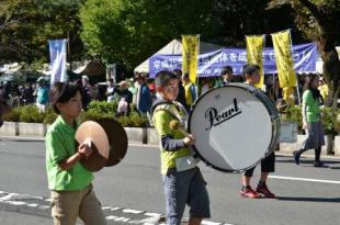
[[[55,191],[77,191],[93,180],[92,172],[77,162],[69,170],[61,170],[58,162],[76,154],[76,130],[59,115],[45,136],[48,188]]]

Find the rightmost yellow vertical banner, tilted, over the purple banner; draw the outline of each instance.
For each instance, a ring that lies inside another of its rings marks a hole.
[[[281,88],[296,86],[290,31],[272,34],[279,82]]]

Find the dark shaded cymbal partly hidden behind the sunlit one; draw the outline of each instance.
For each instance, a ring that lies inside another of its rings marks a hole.
[[[110,144],[110,155],[105,167],[118,164],[127,150],[127,135],[124,127],[113,119],[102,119],[98,123],[104,128]]]

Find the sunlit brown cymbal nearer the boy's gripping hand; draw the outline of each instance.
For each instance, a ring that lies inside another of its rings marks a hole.
[[[83,122],[76,132],[76,146],[89,139],[93,153],[80,164],[89,171],[102,169],[109,160],[109,139],[103,127],[94,121]]]

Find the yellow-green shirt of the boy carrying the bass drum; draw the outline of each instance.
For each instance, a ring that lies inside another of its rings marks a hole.
[[[175,111],[175,106],[171,105],[170,110]],[[157,111],[157,108],[156,110]],[[167,112],[166,110],[159,110],[154,114],[154,125],[155,128],[160,137],[162,136],[172,136],[174,139],[182,139],[185,136],[180,131],[173,131],[170,128],[170,121],[177,120],[171,113]],[[180,157],[185,157],[191,155],[191,150],[188,147],[178,149],[175,151],[168,151],[165,149],[160,149],[160,160],[161,160],[161,175],[167,175],[168,169],[175,168],[175,159]]]

